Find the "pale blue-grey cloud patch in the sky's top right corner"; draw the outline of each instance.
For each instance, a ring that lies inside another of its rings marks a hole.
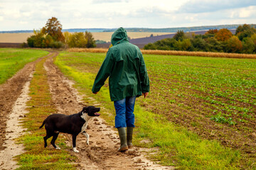
[[[178,11],[181,13],[208,13],[231,8],[256,6],[255,0],[190,0],[183,4]]]

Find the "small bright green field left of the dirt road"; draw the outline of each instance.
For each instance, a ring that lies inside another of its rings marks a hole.
[[[28,62],[33,62],[47,54],[48,52],[44,50],[0,48],[0,84],[13,77]]]

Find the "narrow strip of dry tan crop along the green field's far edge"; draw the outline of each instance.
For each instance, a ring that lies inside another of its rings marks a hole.
[[[107,52],[107,48],[70,48],[68,52]],[[224,53],[224,52],[186,52],[166,50],[142,50],[144,55],[185,55],[198,57],[225,57],[225,58],[250,58],[256,59],[256,55]]]

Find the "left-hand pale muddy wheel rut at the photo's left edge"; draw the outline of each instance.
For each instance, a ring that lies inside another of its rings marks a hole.
[[[13,159],[24,151],[23,145],[16,145],[14,140],[23,134],[24,129],[19,123],[26,114],[33,71],[42,58],[26,64],[14,77],[0,85],[0,169],[18,168]]]

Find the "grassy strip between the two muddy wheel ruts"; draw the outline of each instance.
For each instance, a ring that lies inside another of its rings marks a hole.
[[[65,150],[67,147],[61,136],[57,140],[61,150],[44,148],[43,137],[46,130],[39,127],[48,115],[56,112],[51,100],[46,70],[43,68],[45,61],[46,58],[36,64],[36,71],[31,80],[31,100],[27,103],[29,113],[23,120],[23,128],[27,128],[26,135],[18,139],[18,142],[25,146],[26,152],[17,157],[20,165],[18,169],[75,169],[70,163],[75,162],[76,157]],[[49,142],[50,139],[48,145]]]

